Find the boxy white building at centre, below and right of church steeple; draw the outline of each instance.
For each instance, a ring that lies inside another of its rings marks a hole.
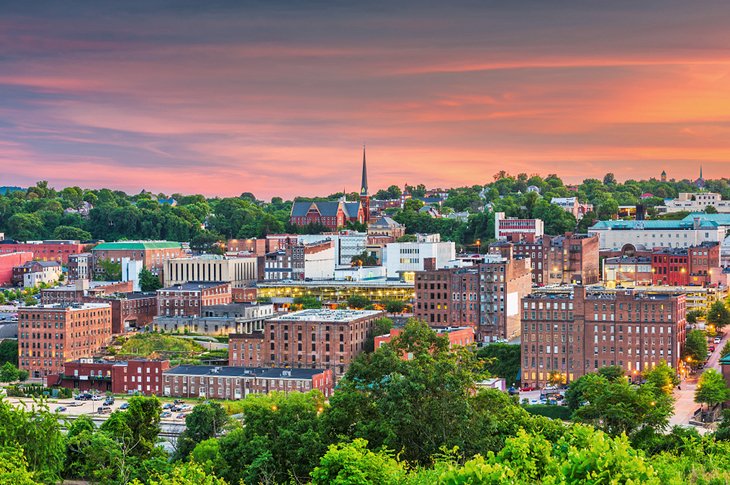
[[[456,246],[453,242],[390,243],[383,251],[387,277],[406,281],[413,281],[415,271],[423,271],[427,267],[443,268],[453,259],[456,259]],[[427,266],[427,261],[430,266]]]

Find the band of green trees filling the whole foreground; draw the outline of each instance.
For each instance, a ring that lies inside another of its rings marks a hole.
[[[410,355],[404,360],[404,355]],[[671,369],[670,369],[671,371]],[[160,403],[134,397],[100,427],[60,431],[47,409],[0,401],[0,482],[102,484],[727,483],[726,426],[700,436],[668,428],[672,374],[633,386],[609,368],[569,395],[574,422],[529,414],[479,389],[471,349],[410,321],[360,355],[326,402],[318,391],[202,403],[168,456],[156,446]],[[667,392],[667,390],[669,392]],[[32,423],[32,425],[31,425]]]

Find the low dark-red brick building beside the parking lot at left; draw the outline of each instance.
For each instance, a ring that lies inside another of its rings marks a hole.
[[[66,362],[63,371],[49,375],[46,383],[77,391],[161,396],[163,372],[169,368],[168,360],[114,362],[79,359]]]

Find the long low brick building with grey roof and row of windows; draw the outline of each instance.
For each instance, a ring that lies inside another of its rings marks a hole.
[[[249,394],[334,391],[331,369],[214,367],[182,365],[164,373],[163,396],[208,399],[244,399]]]

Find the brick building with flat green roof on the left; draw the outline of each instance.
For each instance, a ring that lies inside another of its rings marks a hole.
[[[159,275],[170,259],[187,256],[182,244],[173,241],[120,241],[101,243],[92,248],[94,261],[101,260],[121,263],[122,259],[141,261],[145,268]],[[95,264],[96,271],[100,271],[99,264]]]

